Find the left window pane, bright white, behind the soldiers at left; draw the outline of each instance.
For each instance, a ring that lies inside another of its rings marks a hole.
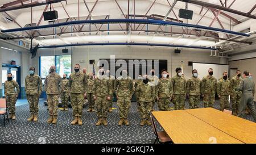
[[[54,59],[55,59],[54,56],[42,56],[41,57],[41,64],[40,64],[41,73],[40,73],[40,76],[42,78],[45,78],[49,74],[49,68],[52,65],[55,65]]]

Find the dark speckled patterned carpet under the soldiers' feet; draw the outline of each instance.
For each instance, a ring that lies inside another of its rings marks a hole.
[[[174,107],[174,104],[171,104],[171,107]],[[185,104],[185,107],[188,108],[188,103]],[[219,108],[218,101],[214,107]],[[139,125],[137,103],[133,102],[130,108],[130,125],[121,127],[117,125],[119,120],[117,109],[108,113],[109,124],[107,127],[103,125],[96,127],[96,114],[86,112],[86,108],[84,108],[82,116],[83,125],[79,126],[70,124],[72,121],[71,108],[68,108],[68,112],[59,111],[58,122],[53,125],[46,123],[48,111],[43,100],[39,104],[39,120],[36,123],[27,122],[30,115],[28,104],[18,106],[16,107],[16,120],[11,120],[3,127],[3,118],[0,118],[0,143],[154,143],[155,135],[152,127]],[[116,108],[115,103],[114,108]],[[158,110],[156,104],[155,109]],[[252,120],[250,115],[246,117],[246,119]],[[157,126],[160,131],[160,125],[157,124]]]

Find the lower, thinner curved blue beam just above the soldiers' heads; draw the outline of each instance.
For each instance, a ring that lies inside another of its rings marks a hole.
[[[73,47],[73,46],[92,46],[92,45],[141,45],[141,46],[158,46],[158,47],[180,47],[180,48],[196,48],[217,50],[217,48],[187,46],[187,45],[168,45],[168,44],[148,44],[148,43],[84,43],[84,44],[65,44],[65,45],[51,45],[38,48],[58,48],[58,47]]]

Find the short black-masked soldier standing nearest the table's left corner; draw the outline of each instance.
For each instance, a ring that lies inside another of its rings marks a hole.
[[[150,122],[150,111],[155,99],[155,87],[148,84],[147,75],[143,76],[143,82],[139,84],[135,91],[141,104],[141,125],[152,125]]]

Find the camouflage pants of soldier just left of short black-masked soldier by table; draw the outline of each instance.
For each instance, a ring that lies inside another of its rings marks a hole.
[[[129,109],[131,107],[131,99],[130,97],[118,97],[117,106],[119,109],[119,117],[120,119],[127,119]]]

